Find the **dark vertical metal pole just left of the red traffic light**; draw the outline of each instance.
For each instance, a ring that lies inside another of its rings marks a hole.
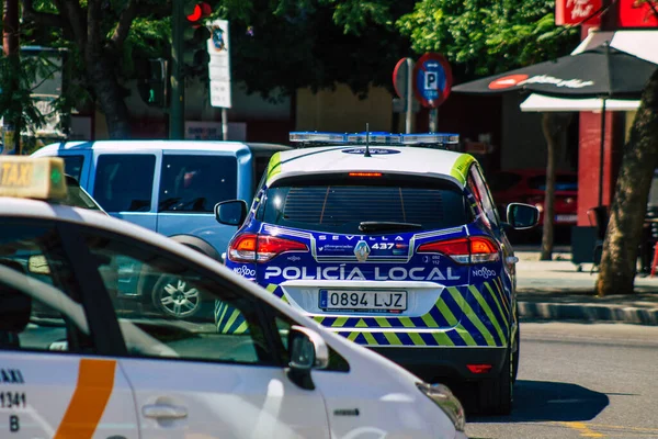
[[[173,0],[171,11],[171,101],[169,138],[182,139],[185,128],[185,78],[183,75],[183,0]]]

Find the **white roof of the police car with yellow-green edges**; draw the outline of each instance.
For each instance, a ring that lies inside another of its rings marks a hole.
[[[410,146],[363,145],[300,148],[274,155],[268,168],[268,184],[295,175],[377,171],[436,177],[464,187],[468,166],[475,158],[445,149]]]

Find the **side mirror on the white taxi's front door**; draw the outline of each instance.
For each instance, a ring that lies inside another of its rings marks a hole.
[[[325,369],[329,365],[329,347],[315,330],[294,325],[288,331],[288,378],[299,387],[314,390],[310,378],[313,369]]]

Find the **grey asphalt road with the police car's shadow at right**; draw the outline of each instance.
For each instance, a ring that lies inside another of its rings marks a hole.
[[[522,323],[509,417],[468,417],[469,438],[658,438],[658,327]]]

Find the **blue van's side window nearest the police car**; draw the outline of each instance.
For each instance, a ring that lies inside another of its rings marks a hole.
[[[158,212],[212,213],[237,196],[237,169],[230,156],[164,155]]]

